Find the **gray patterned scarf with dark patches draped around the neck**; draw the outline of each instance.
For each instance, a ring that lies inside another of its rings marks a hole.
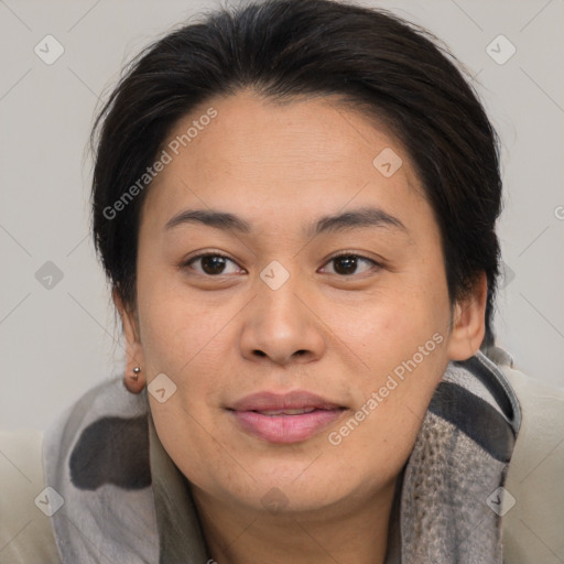
[[[498,488],[519,425],[517,397],[488,357],[448,365],[398,480],[387,564],[501,564]],[[43,463],[64,501],[51,518],[64,564],[212,562],[147,391],[115,379],[87,392],[47,430]]]

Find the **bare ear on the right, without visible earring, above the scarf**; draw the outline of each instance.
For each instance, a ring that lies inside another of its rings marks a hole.
[[[447,349],[451,360],[466,360],[479,350],[486,334],[487,297],[488,279],[481,272],[471,294],[455,304]]]

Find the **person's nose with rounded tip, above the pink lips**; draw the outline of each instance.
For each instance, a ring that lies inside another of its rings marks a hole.
[[[324,324],[315,303],[295,276],[276,290],[261,280],[246,307],[240,346],[247,359],[269,359],[276,365],[319,359],[325,350]],[[268,360],[267,360],[268,361]]]

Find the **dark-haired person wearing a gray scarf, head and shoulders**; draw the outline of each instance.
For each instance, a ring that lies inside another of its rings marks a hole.
[[[141,53],[96,132],[94,238],[124,387],[93,389],[47,431],[35,503],[50,519],[21,551],[539,555],[522,527],[558,508],[531,501],[524,460],[557,444],[545,425],[562,441],[564,393],[495,347],[498,141],[448,53],[382,10],[218,11]]]

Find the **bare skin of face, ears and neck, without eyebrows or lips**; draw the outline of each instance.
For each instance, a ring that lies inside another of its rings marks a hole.
[[[469,358],[485,332],[486,276],[449,303],[438,226],[404,148],[334,97],[285,105],[240,91],[206,101],[170,139],[214,107],[217,117],[155,178],[142,208],[133,310],[117,293],[132,391],[164,372],[177,387],[151,394],[159,437],[191,481],[210,555],[220,563],[381,563],[398,473],[449,360]],[[402,166],[384,177],[384,148]],[[409,232],[371,226],[306,237],[318,217],[370,205]],[[250,234],[200,224],[165,230],[187,208],[229,212]],[[202,252],[227,256],[210,274]],[[359,260],[351,274],[330,259]],[[273,260],[290,278],[260,278]],[[402,361],[442,343],[339,445],[339,430]],[[301,351],[301,352],[299,352]],[[247,434],[225,406],[249,393],[305,389],[347,406],[306,441]],[[282,491],[276,513],[263,505]],[[291,539],[291,542],[289,542]],[[332,560],[333,558],[333,560]]]

